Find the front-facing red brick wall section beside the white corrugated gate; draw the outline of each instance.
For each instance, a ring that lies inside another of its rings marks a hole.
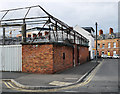
[[[53,73],[53,45],[23,45],[22,71]]]

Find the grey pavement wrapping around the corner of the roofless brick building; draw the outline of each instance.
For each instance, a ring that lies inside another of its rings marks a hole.
[[[101,61],[101,59],[98,61]],[[95,60],[92,60],[55,74],[2,72],[2,79],[13,79],[27,86],[63,86],[76,83],[97,64]]]

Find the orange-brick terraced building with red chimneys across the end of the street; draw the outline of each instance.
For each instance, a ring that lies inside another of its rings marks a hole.
[[[114,33],[112,28],[109,29],[108,34],[103,34],[103,30],[99,30],[97,48],[99,56],[102,54],[106,54],[108,56],[113,56],[114,54],[120,55],[120,33]]]

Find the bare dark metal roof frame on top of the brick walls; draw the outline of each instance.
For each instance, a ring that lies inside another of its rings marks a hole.
[[[27,17],[29,11],[32,8],[39,8],[42,12],[44,12],[47,16],[37,16],[37,17]],[[22,10],[26,9],[27,12],[22,18],[10,18],[4,19],[6,15],[11,11]],[[26,26],[27,25],[41,25],[41,28],[48,27],[49,28],[49,41],[53,38],[56,42],[60,40],[65,41],[68,40],[70,43],[86,45],[88,46],[88,40],[79,34],[77,31],[73,30],[70,26],[65,24],[64,22],[60,21],[59,19],[53,17],[47,11],[45,11],[41,6],[31,6],[31,7],[24,7],[24,8],[16,8],[16,9],[9,9],[9,10],[2,10],[0,13],[4,13],[4,15],[0,19],[0,27],[3,28],[3,42],[5,37],[5,28],[6,27],[15,27],[20,26],[22,27],[22,42],[26,42]],[[41,32],[40,30],[39,32]],[[53,36],[51,36],[51,34]],[[3,43],[5,44],[5,43]]]

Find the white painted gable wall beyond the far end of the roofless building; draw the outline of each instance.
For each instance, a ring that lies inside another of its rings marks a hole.
[[[91,36],[91,34],[84,30],[83,28],[79,27],[78,25],[76,25],[74,27],[74,30],[77,31],[78,33],[80,33],[82,36],[84,36],[85,38],[87,38],[89,40],[89,51],[91,51],[91,59],[94,59],[94,38]]]

